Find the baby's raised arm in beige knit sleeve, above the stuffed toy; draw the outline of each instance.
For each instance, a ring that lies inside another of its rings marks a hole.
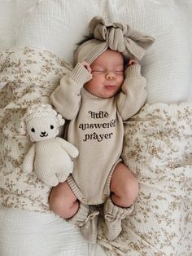
[[[81,88],[92,78],[83,64],[76,64],[71,73],[65,75],[59,86],[50,95],[50,102],[58,113],[68,120],[72,120],[79,111],[81,104]]]

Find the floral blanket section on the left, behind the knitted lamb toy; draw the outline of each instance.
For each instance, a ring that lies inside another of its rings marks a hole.
[[[59,79],[72,67],[49,51],[13,47],[0,53],[0,202],[11,208],[49,212],[50,188],[22,162],[31,145],[20,131],[29,105],[49,103]]]

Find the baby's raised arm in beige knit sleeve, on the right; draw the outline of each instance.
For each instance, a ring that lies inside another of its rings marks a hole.
[[[124,76],[124,84],[117,96],[117,108],[123,120],[127,120],[145,104],[146,79],[142,77],[141,66],[136,60],[129,61]]]

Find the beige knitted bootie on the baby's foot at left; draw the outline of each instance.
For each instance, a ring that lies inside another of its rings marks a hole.
[[[81,234],[85,236],[85,239],[89,243],[95,244],[98,234],[98,214],[98,210],[80,203],[79,210],[72,218],[68,219],[68,222],[80,227]]]

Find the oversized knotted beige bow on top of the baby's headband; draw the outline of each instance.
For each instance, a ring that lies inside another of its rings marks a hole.
[[[94,38],[105,41],[113,51],[119,51],[123,55],[133,55],[138,60],[142,59],[146,49],[155,39],[131,29],[128,24],[106,24],[102,17],[94,17],[89,23],[90,33]]]

